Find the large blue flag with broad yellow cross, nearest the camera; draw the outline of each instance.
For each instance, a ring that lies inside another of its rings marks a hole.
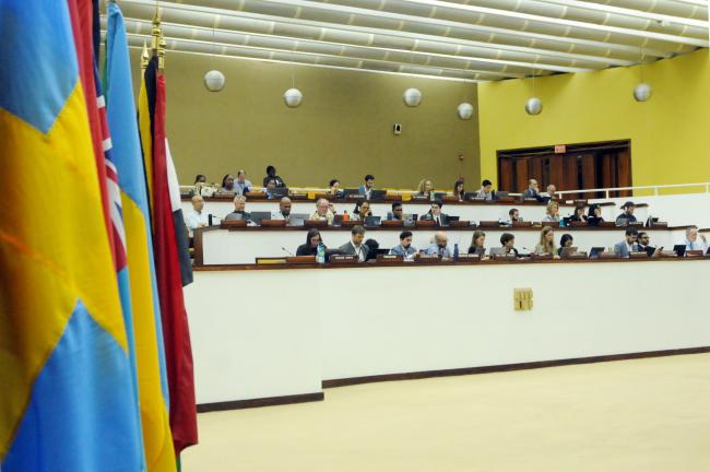
[[[142,469],[70,2],[0,0],[3,472]]]

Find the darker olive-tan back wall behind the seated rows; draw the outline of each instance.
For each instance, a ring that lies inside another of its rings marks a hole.
[[[133,64],[139,52],[132,50]],[[203,85],[211,69],[227,78],[220,93]],[[283,93],[294,71],[305,98],[292,109]],[[466,97],[477,106],[475,84],[171,51],[166,80],[167,133],[182,184],[196,174],[221,181],[245,168],[261,185],[270,164],[289,186],[326,187],[339,178],[354,187],[365,174],[377,177],[377,187],[394,188],[415,188],[423,177],[441,189],[459,175],[469,188],[480,180],[478,123],[455,114]],[[416,108],[402,102],[411,86],[423,93]],[[399,137],[395,122],[403,125]]]

